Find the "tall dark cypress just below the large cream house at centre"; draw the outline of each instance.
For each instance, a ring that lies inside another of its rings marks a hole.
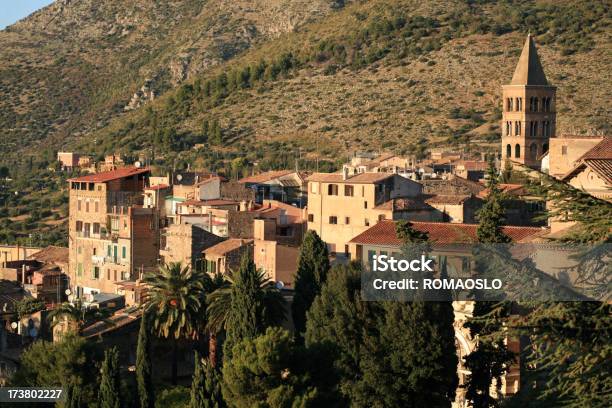
[[[293,324],[298,335],[306,330],[306,312],[321,287],[329,271],[327,245],[315,231],[308,231],[300,247],[298,266],[295,274],[295,291],[291,312]]]

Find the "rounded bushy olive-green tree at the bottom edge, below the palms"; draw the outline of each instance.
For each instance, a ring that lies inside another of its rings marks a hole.
[[[280,327],[234,346],[223,367],[223,396],[237,408],[334,406],[331,367],[324,354],[295,343]],[[304,364],[313,362],[315,364]]]

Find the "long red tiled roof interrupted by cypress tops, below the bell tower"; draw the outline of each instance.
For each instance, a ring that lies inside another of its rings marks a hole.
[[[444,222],[412,222],[416,230],[427,232],[429,239],[442,244],[477,242],[477,224],[452,224]],[[545,233],[546,230],[538,227],[502,227],[502,231],[512,241],[520,242],[536,238]],[[351,243],[401,246],[402,242],[395,234],[395,222],[390,220],[380,221],[376,225],[353,238]]]

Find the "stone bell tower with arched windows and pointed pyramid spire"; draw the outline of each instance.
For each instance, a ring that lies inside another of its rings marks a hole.
[[[502,87],[502,161],[540,169],[540,157],[555,136],[556,90],[548,84],[529,34],[512,81]]]

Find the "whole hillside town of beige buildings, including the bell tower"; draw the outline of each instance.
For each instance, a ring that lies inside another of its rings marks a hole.
[[[326,244],[332,266],[357,262],[364,268],[376,255],[401,251],[402,222],[432,242],[477,242],[492,174],[501,177],[502,231],[512,242],[562,237],[575,222],[543,219],[552,204],[528,188],[528,176],[548,175],[612,202],[612,137],[558,134],[556,86],[563,83],[547,79],[528,36],[513,77],[500,90],[501,143],[486,155],[442,147],[429,149],[424,159],[355,152],[338,172],[296,166],[240,178],[197,169],[163,173],[146,160],[128,165],[120,154],[96,162],[86,153],[58,152],[59,171],[80,174],[66,185],[68,247],[0,245],[0,384],[17,370],[27,345],[39,337],[58,341],[74,329],[69,319],[52,327],[47,319],[67,303],[107,311],[105,319],[87,321],[79,332],[116,345],[134,366],[141,306],[150,290],[147,276],[160,265],[179,263],[231,277],[247,257],[291,304],[309,232]],[[31,298],[42,301],[43,310],[19,312],[19,304]],[[461,386],[469,368],[462,357],[478,340],[464,326],[472,302],[453,307],[459,356],[454,406],[464,407]],[[283,326],[294,327],[290,313]],[[518,339],[506,343],[520,351]],[[189,376],[193,355],[181,352],[179,377]],[[515,361],[498,390],[510,396],[520,384]]]

